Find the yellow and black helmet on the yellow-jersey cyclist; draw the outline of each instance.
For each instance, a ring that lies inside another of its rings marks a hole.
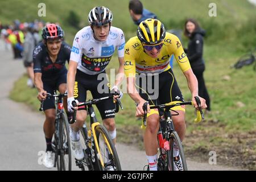
[[[143,44],[158,44],[165,38],[166,30],[159,20],[149,18],[139,24],[137,36]]]

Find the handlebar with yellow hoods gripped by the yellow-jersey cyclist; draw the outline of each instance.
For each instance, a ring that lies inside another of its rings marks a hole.
[[[194,123],[199,123],[199,122],[201,122],[202,119],[204,119],[204,113],[201,108],[201,101],[200,101],[199,97],[195,97],[195,100],[196,100],[196,104],[199,107],[199,109],[196,111],[196,118],[194,119]],[[143,125],[144,126],[147,125],[147,105],[148,105],[148,102],[145,102],[143,105],[143,110],[144,110]],[[179,102],[176,104],[172,104],[172,102],[170,102],[168,104],[162,104],[162,105],[156,105],[156,106],[150,105],[150,109],[163,109],[163,108],[171,109],[172,107],[181,106],[181,105],[193,105],[193,102],[192,101]]]

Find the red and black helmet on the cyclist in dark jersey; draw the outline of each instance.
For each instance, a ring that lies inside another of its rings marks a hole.
[[[42,31],[42,38],[47,39],[56,39],[63,38],[64,32],[60,26],[54,23],[47,24]]]

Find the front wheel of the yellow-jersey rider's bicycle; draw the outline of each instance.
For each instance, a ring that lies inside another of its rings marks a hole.
[[[183,146],[176,131],[171,133],[169,142],[170,150],[167,152],[169,171],[187,171]]]

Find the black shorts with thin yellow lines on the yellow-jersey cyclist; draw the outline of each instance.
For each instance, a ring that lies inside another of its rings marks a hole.
[[[136,87],[150,105],[184,102],[172,69],[155,75],[142,73],[136,77]],[[174,110],[184,110],[184,106],[174,107]]]

